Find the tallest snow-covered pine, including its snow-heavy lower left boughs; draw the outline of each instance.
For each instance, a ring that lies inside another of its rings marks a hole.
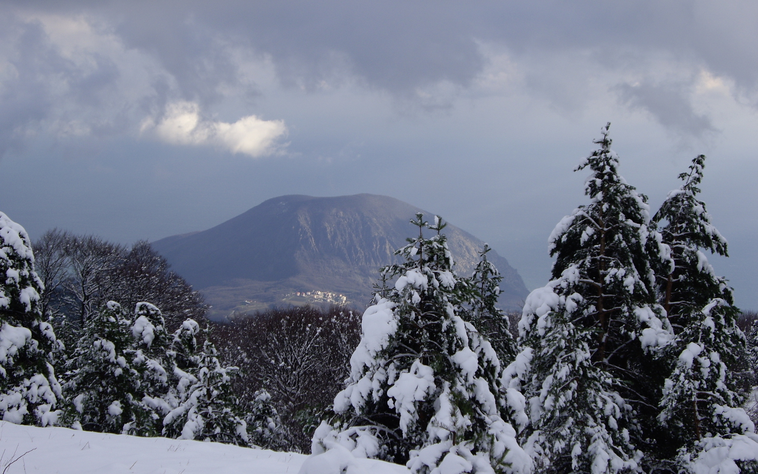
[[[644,347],[671,337],[646,253],[649,208],[617,171],[609,126],[575,170],[592,171],[590,204],[550,235],[553,281],[528,297],[519,367],[506,371],[529,400],[524,438],[543,472],[637,469],[637,419],[655,393]]]

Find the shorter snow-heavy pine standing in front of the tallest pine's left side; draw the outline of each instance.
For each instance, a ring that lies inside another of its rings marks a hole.
[[[522,444],[537,472],[634,470],[632,407],[618,392],[622,381],[592,360],[599,331],[581,319],[593,308],[578,293],[560,294],[566,280],[534,290],[519,325],[522,366],[511,377],[522,378],[531,415]]]

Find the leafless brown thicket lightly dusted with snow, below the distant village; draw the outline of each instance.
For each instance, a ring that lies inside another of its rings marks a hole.
[[[313,430],[349,375],[360,315],[337,306],[271,309],[217,326],[214,338],[227,363],[242,369],[240,397],[247,400],[265,388],[287,427],[288,449],[307,452]]]

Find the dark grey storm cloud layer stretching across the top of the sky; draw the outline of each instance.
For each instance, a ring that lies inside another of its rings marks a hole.
[[[492,59],[482,42],[505,48],[560,107],[581,107],[586,91],[578,89],[594,74],[565,71],[561,58],[572,55],[600,67],[607,88],[630,71],[650,75],[653,65],[638,59],[650,54],[675,69],[726,77],[750,100],[758,84],[750,46],[758,7],[749,2],[5,2],[3,9],[0,120],[16,128],[52,121],[59,133],[136,127],[140,114],[181,100],[206,108],[231,89],[255,96],[240,57],[271,61],[284,86],[315,90],[349,79],[421,105],[439,102],[439,84],[452,87],[447,94],[475,84]],[[713,130],[707,115],[688,113],[681,81],[618,90],[622,103],[646,108],[677,133]]]

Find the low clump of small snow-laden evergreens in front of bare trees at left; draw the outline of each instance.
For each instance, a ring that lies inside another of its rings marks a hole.
[[[160,310],[137,303],[133,320],[109,302],[87,319],[70,359],[70,418],[99,432],[280,445],[280,422],[265,392],[243,413],[232,391],[236,367],[224,367],[214,344],[187,319],[169,337]]]

